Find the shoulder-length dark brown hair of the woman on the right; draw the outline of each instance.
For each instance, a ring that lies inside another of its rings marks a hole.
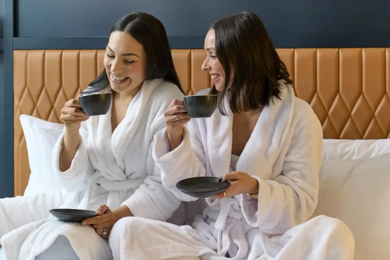
[[[210,94],[218,95],[218,109],[226,115],[223,100],[229,99],[234,113],[268,106],[280,99],[279,80],[291,84],[286,66],[279,58],[261,19],[251,12],[225,16],[215,21],[215,51],[225,72],[221,91],[212,86]],[[232,81],[231,88],[228,88]]]

